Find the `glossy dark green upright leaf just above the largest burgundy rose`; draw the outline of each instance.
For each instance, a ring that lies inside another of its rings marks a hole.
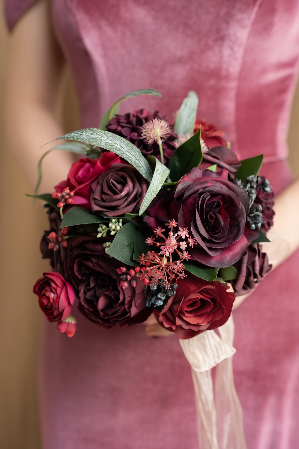
[[[174,151],[169,161],[170,178],[173,181],[180,180],[182,176],[201,163],[203,153],[200,144],[200,132],[201,130],[197,131],[194,136]]]

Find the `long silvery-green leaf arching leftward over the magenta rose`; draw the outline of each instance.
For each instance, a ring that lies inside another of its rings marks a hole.
[[[137,168],[139,173],[141,173],[145,179],[148,181],[152,180],[152,169],[146,158],[144,158],[141,154],[139,148],[123,137],[113,134],[113,132],[103,131],[97,128],[87,128],[69,132],[68,134],[57,137],[57,139],[54,140],[59,139],[85,142],[90,145],[99,146],[105,150],[113,151],[118,154],[118,156],[121,156],[121,158],[133,165],[133,167]]]

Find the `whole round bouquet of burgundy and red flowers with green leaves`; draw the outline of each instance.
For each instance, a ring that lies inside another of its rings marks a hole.
[[[258,174],[263,155],[238,160],[224,131],[196,119],[195,92],[173,125],[157,111],[118,113],[121,101],[142,94],[160,96],[130,92],[99,129],[58,138],[69,142],[53,150],[83,157],[53,193],[37,194],[38,184],[32,195],[45,202],[50,227],[41,252],[53,270],[34,292],[48,320],[69,337],[76,301],[106,328],[153,313],[184,349],[184,340],[223,326],[235,296],[269,273],[261,243],[269,241],[273,193]]]

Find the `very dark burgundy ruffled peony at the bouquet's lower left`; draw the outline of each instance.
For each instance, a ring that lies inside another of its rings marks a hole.
[[[151,310],[145,306],[144,285],[123,290],[116,269],[123,266],[105,254],[104,240],[73,238],[67,247],[65,273],[80,301],[79,309],[90,320],[105,327],[130,326],[145,321]]]

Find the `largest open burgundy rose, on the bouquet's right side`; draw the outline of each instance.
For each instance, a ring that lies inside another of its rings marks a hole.
[[[155,228],[174,218],[180,227],[191,229],[197,245],[189,254],[195,260],[211,267],[228,267],[246,251],[248,207],[248,195],[227,180],[226,170],[217,174],[195,167],[168,196],[157,195],[145,222]]]

